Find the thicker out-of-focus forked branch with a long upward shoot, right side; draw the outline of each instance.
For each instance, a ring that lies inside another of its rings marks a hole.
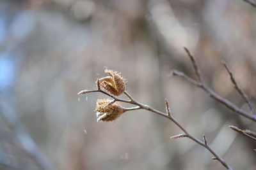
[[[216,101],[218,101],[219,103],[225,105],[227,108],[229,108],[230,110],[234,111],[234,113],[237,113],[243,117],[246,117],[250,120],[253,120],[254,122],[256,122],[256,116],[255,115],[251,115],[250,113],[241,110],[241,108],[238,108],[236,106],[236,104],[228,101],[227,99],[221,97],[220,95],[218,95],[216,92],[214,92],[212,89],[210,89],[209,87],[207,87],[207,85],[205,85],[204,81],[202,80],[202,76],[200,74],[200,71],[198,69],[198,64],[196,64],[196,60],[195,57],[193,57],[193,55],[191,55],[191,53],[189,52],[189,50],[187,48],[184,48],[185,51],[188,53],[189,59],[191,59],[191,62],[193,64],[193,67],[195,69],[196,72],[196,76],[198,76],[198,80],[193,80],[193,78],[190,78],[188,75],[186,75],[185,73],[182,73],[180,71],[174,70],[172,71],[174,76],[181,76],[182,78],[184,78],[186,81],[189,81],[189,83],[192,83],[193,85],[200,87],[201,89],[203,89],[205,92],[207,92],[210,97],[212,97],[213,99],[215,99]],[[228,69],[229,70],[229,69]],[[201,81],[202,80],[202,81]]]

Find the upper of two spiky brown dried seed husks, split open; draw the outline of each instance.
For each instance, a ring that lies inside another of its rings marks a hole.
[[[119,96],[125,91],[125,79],[116,71],[105,69],[109,76],[99,79],[100,87],[109,93]]]

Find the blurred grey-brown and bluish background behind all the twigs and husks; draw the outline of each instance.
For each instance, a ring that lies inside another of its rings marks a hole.
[[[246,111],[221,60],[256,101],[256,8],[240,0],[1,0],[0,169],[224,169],[172,122],[130,111],[97,123],[95,89],[104,69],[122,72],[127,91],[202,134],[234,169],[256,169],[252,140],[228,125],[255,122],[216,103],[172,69],[205,82]],[[124,96],[121,96],[124,97]],[[127,106],[127,104],[124,104]]]

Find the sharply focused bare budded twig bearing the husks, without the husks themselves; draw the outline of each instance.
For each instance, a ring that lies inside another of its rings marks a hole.
[[[97,83],[98,84],[98,83]],[[214,155],[214,158],[216,158],[216,160],[218,160],[224,167],[226,167],[227,169],[232,169],[232,167],[230,167],[226,162],[225,160],[223,160],[220,155],[218,155],[218,153],[216,153],[208,144],[207,144],[207,141],[206,141],[206,138],[204,138],[204,142],[203,141],[200,141],[199,139],[195,138],[194,136],[192,136],[191,134],[189,134],[188,131],[186,131],[186,129],[184,127],[182,127],[182,125],[179,124],[179,122],[177,122],[177,120],[175,120],[175,118],[172,117],[172,115],[170,114],[170,107],[169,107],[169,104],[168,104],[168,101],[165,100],[165,104],[166,104],[166,113],[163,113],[161,111],[158,111],[158,110],[155,110],[154,108],[151,108],[150,106],[147,106],[145,104],[141,104],[139,103],[138,101],[134,100],[131,95],[129,95],[126,91],[124,92],[125,96],[127,96],[129,98],[129,100],[125,100],[125,99],[120,99],[120,98],[117,98],[115,96],[112,96],[111,94],[109,94],[108,92],[104,92],[103,90],[101,90],[98,86],[98,89],[97,90],[83,90],[81,92],[79,92],[78,94],[87,94],[87,93],[91,93],[91,92],[101,92],[103,94],[106,94],[108,95],[109,97],[112,97],[114,99],[114,101],[120,101],[120,102],[124,102],[124,103],[129,103],[129,104],[134,104],[136,105],[137,107],[134,107],[134,108],[126,108],[125,111],[131,111],[131,110],[140,110],[140,109],[143,109],[143,110],[148,110],[148,111],[152,111],[154,113],[156,113],[157,115],[161,115],[162,117],[166,117],[168,118],[169,120],[171,120],[175,125],[177,125],[183,132],[184,134],[179,134],[179,135],[176,135],[176,136],[172,136],[171,138],[172,139],[175,139],[175,138],[189,138],[193,141],[195,141],[196,143],[198,143],[199,145],[201,146],[204,146],[204,148],[206,148],[207,150],[209,150],[209,152],[212,153],[212,155]],[[112,101],[111,101],[112,102]]]

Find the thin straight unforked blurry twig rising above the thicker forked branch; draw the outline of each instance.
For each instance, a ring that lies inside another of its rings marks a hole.
[[[250,103],[248,96],[243,92],[243,90],[239,87],[239,85],[237,84],[232,72],[230,71],[229,67],[227,66],[227,64],[222,61],[223,65],[225,66],[225,68],[227,69],[227,72],[230,76],[230,80],[232,81],[232,83],[234,84],[235,89],[237,90],[237,92],[243,97],[244,101],[248,104],[250,110],[253,113],[253,108],[252,108],[252,103]]]

